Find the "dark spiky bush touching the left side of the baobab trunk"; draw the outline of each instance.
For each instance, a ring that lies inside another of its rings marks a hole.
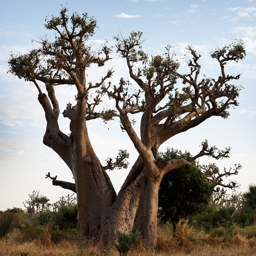
[[[76,227],[78,222],[77,218],[78,206],[61,206],[55,214],[54,220],[55,224],[58,225],[60,229],[69,229]]]

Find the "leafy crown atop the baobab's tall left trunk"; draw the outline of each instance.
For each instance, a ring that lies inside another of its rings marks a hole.
[[[10,54],[8,72],[19,79],[24,78],[25,81],[35,82],[40,77],[40,81],[46,82],[52,78],[70,79],[70,74],[65,70],[68,62],[73,71],[76,68],[86,68],[90,63],[98,63],[100,66],[105,62],[99,55],[102,52],[109,54],[110,48],[103,46],[100,52],[95,53],[91,50],[92,46],[84,44],[94,35],[97,28],[96,20],[93,17],[89,18],[87,13],[79,16],[76,12],[69,18],[66,12],[68,9],[63,7],[59,17],[46,18],[45,28],[56,32],[55,40],[50,42],[49,38],[44,36],[39,38],[39,49],[33,49],[28,54]],[[76,52],[71,54],[70,50]],[[84,60],[79,67],[75,65],[77,52]],[[52,89],[52,85],[47,88],[48,91]],[[83,97],[86,97],[86,93]]]

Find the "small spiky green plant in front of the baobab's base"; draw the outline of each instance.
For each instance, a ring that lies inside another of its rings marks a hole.
[[[134,250],[135,246],[137,246],[138,242],[142,236],[140,236],[140,232],[135,234],[126,234],[122,233],[119,228],[116,230],[116,236],[118,237],[118,245],[115,245],[120,255],[127,256],[130,251],[130,255],[132,254],[132,250]]]

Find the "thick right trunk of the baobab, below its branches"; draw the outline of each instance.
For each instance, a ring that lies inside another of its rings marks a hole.
[[[161,170],[146,169],[127,188],[121,191],[107,217],[108,241],[116,242],[115,230],[126,233],[142,231],[142,239],[147,249],[156,245],[158,190],[161,175],[153,175]]]

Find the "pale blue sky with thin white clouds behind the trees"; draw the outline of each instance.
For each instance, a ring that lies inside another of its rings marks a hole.
[[[180,61],[180,73],[187,73],[184,55],[186,46],[193,46],[202,57],[201,78],[218,78],[220,68],[210,52],[216,47],[231,44],[235,39],[245,42],[247,55],[239,63],[228,63],[226,74],[241,74],[236,85],[244,89],[239,96],[239,106],[230,111],[228,119],[210,118],[200,126],[188,130],[168,140],[159,149],[167,147],[198,153],[202,141],[224,149],[231,147],[230,158],[217,161],[220,170],[234,168],[241,164],[239,174],[230,179],[245,192],[250,184],[256,184],[256,0],[116,0],[116,1],[4,1],[0,9],[0,210],[20,207],[32,191],[39,191],[50,202],[60,196],[72,194],[59,186],[52,186],[50,172],[59,180],[73,182],[71,171],[58,155],[42,143],[46,129],[44,112],[39,104],[38,92],[29,82],[7,73],[9,54],[26,53],[38,47],[41,36],[54,36],[44,28],[46,17],[57,16],[63,6],[69,14],[87,12],[97,20],[98,28],[92,38],[95,48],[108,41],[113,46],[113,58],[103,68],[92,66],[87,70],[87,81],[97,82],[111,66],[114,66],[113,83],[121,77],[128,78],[126,63],[114,50],[113,36],[122,33],[129,36],[131,31],[142,31],[142,47],[148,55],[164,54],[165,46],[174,47]],[[34,42],[32,42],[35,40]],[[55,90],[61,113],[68,102],[74,102],[75,90],[70,86]],[[111,102],[104,100],[102,107],[108,108]],[[138,130],[139,119],[135,129]],[[68,120],[60,117],[60,129],[68,133]],[[103,121],[90,121],[87,124],[90,140],[98,158],[105,166],[105,159],[114,158],[119,149],[130,153],[130,167],[138,153],[129,137],[121,131],[118,121],[104,124]],[[204,157],[200,164],[215,162]],[[124,182],[127,170],[108,172],[118,193]]]

